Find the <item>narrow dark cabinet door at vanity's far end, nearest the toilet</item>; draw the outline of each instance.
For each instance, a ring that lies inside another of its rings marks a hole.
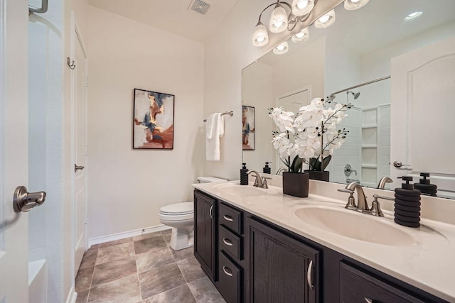
[[[216,200],[194,194],[194,256],[200,267],[215,280],[215,214]]]

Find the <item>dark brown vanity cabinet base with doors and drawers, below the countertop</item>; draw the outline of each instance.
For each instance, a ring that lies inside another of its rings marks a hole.
[[[198,190],[194,204],[194,255],[228,303],[446,303]]]

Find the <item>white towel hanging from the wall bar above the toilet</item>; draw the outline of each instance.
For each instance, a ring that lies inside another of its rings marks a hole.
[[[205,132],[205,157],[208,161],[219,161],[220,137],[225,133],[225,123],[220,113],[208,116]]]

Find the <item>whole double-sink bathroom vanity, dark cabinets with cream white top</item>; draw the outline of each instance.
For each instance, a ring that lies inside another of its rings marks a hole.
[[[368,215],[353,211],[351,218],[342,201],[313,194],[298,199],[279,187],[237,183],[194,184],[194,253],[228,303],[455,302],[455,284],[448,280],[454,261],[441,267],[439,260],[455,252],[453,226],[408,231],[390,224],[387,214],[367,226],[370,219],[362,216]],[[358,238],[318,226],[322,216],[336,221],[331,211],[341,220],[346,216],[344,224],[358,230]],[[445,253],[437,254],[441,243]]]

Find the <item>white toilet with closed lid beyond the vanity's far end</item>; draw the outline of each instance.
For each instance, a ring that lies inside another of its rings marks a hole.
[[[224,182],[217,177],[198,177],[199,183]],[[169,204],[159,210],[159,221],[172,227],[171,248],[179,250],[194,243],[194,204],[183,202]]]

